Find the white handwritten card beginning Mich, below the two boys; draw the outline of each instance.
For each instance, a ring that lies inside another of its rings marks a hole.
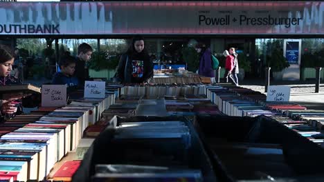
[[[85,81],[84,97],[85,98],[105,98],[105,81]]]

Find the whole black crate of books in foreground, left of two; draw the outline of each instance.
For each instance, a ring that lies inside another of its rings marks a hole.
[[[114,117],[111,123],[96,139],[109,147],[93,146],[87,160],[96,162],[80,166],[75,180],[89,181],[78,176],[92,166],[94,181],[216,180],[192,123],[183,117]]]

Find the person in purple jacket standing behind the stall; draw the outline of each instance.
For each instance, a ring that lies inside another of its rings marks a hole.
[[[202,77],[215,78],[215,73],[212,68],[212,59],[210,48],[207,48],[204,43],[198,43],[196,50],[199,53],[199,69],[198,74]]]

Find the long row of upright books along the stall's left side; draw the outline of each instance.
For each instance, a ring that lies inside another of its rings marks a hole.
[[[106,109],[114,93],[107,98],[79,99],[62,108],[39,108],[3,123],[0,127],[0,171],[3,174],[0,177],[17,181],[43,180],[55,163],[77,147],[83,130],[96,120],[92,111]]]

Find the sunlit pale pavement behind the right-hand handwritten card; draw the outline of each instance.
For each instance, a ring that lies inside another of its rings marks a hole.
[[[272,81],[270,85],[288,85],[291,87],[290,101],[303,105],[308,109],[324,110],[323,83],[320,85],[319,93],[315,93],[314,81]],[[264,81],[242,81],[240,86],[264,93]]]

